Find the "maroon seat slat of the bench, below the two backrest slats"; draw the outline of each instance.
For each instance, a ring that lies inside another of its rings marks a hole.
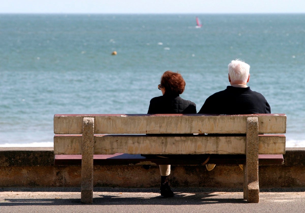
[[[201,165],[210,157],[208,163],[217,165],[238,165],[246,163],[246,155],[131,155],[116,153],[114,155],[94,155],[94,165]],[[283,155],[258,155],[259,165],[282,165]],[[55,155],[54,165],[81,165],[81,155]]]

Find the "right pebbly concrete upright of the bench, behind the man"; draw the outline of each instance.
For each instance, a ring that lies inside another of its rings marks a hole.
[[[244,198],[247,198],[249,203],[258,203],[259,192],[258,118],[248,117],[246,130],[246,165],[244,168]]]

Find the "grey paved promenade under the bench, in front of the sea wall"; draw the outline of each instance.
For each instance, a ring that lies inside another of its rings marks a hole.
[[[0,188],[0,212],[304,212],[305,189],[262,189],[260,202],[243,200],[240,189],[175,188],[163,198],[158,189],[95,188],[93,204],[80,203],[80,188]]]

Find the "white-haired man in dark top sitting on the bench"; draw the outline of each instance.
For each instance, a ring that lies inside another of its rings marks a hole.
[[[231,61],[228,65],[229,82],[227,89],[208,97],[199,110],[200,114],[256,114],[271,113],[265,97],[252,91],[247,83],[250,79],[250,66],[243,61]],[[211,171],[215,164],[206,164]]]

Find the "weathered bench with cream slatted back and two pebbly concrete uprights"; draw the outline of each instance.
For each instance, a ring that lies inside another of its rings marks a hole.
[[[285,114],[56,114],[54,162],[60,163],[62,155],[74,160],[82,155],[82,203],[92,203],[94,163],[120,164],[115,159],[121,155],[142,164],[180,164],[181,159],[188,159],[185,164],[244,164],[244,199],[258,203],[259,162],[283,162],[285,132]]]

